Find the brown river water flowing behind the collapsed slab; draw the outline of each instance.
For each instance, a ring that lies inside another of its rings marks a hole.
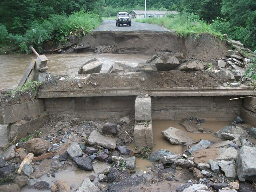
[[[149,58],[142,54],[92,53],[46,54],[46,56],[49,59],[48,69],[53,75],[76,75],[78,68],[94,57],[103,63],[101,73],[106,73],[114,62],[136,66]],[[36,59],[34,54],[0,55],[0,90],[16,87],[33,58]]]

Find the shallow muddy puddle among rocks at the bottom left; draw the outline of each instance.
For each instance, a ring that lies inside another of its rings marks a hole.
[[[55,177],[47,177],[47,175],[43,175],[39,180],[47,181],[50,183],[50,186],[55,182],[56,180],[61,180],[66,182],[72,189],[71,192],[74,192],[78,189],[78,187],[83,182],[84,178],[89,177],[90,175],[94,175],[96,178],[94,180],[94,184],[98,182],[98,174],[102,171],[104,171],[107,167],[110,166],[108,163],[104,162],[95,162],[92,164],[94,171],[83,171],[81,169],[75,169],[75,170],[63,170],[60,172],[55,173]],[[39,180],[35,180],[35,182],[38,182]],[[30,180],[31,184],[33,185],[35,182],[34,180]],[[51,190],[36,190],[36,189],[29,189],[28,187],[23,187],[22,192],[35,192],[35,191],[51,191]]]

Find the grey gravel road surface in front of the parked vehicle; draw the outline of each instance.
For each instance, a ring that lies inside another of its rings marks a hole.
[[[104,19],[102,24],[93,31],[168,31],[167,29],[154,24],[138,23],[132,20],[132,26],[121,25],[116,26],[115,20]]]

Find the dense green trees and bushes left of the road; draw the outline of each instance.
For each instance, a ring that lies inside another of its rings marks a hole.
[[[44,41],[62,43],[86,35],[101,23],[92,0],[6,0],[0,2],[0,45],[29,46],[40,51]]]

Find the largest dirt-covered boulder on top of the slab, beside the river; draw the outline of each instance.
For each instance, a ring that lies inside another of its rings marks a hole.
[[[147,63],[154,64],[157,71],[169,71],[179,66],[179,59],[183,58],[183,53],[157,52]]]

